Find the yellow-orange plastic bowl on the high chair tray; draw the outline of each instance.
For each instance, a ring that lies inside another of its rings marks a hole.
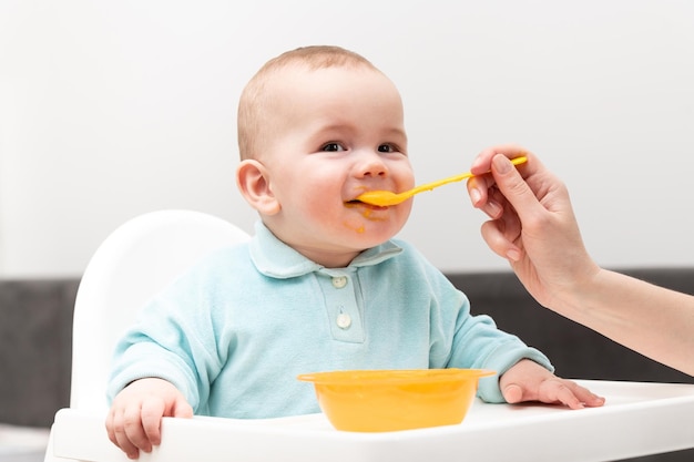
[[[348,370],[306,373],[337,430],[382,432],[462,422],[482,369]]]

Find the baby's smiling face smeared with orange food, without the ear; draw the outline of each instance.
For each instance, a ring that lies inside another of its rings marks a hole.
[[[397,234],[411,209],[411,199],[353,202],[365,191],[415,184],[400,95],[366,66],[292,69],[276,86],[261,161],[280,211],[265,223],[313,260],[346,266]]]

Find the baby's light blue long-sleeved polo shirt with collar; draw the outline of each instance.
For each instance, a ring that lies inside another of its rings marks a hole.
[[[544,355],[471,316],[467,297],[411,245],[389,240],[325,268],[263,224],[249,243],[210,255],[141,311],[119,342],[109,399],[145,377],[171,381],[196,414],[318,412],[299,373],[480,368],[503,373]],[[498,377],[478,394],[502,402]]]

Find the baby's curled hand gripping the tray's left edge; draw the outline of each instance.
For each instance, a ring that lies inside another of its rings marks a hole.
[[[106,417],[109,439],[129,459],[137,459],[141,450],[151,452],[161,443],[162,417],[191,418],[193,408],[166,380],[135,380],[113,400]]]

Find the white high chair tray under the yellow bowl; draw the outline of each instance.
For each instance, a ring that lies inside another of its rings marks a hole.
[[[252,421],[166,418],[161,446],[140,460],[570,462],[694,448],[694,384],[578,382],[605,397],[605,405],[572,411],[477,401],[459,425],[387,433],[336,431],[323,414]],[[109,441],[99,413],[59,411],[53,449],[69,460],[127,461]]]

